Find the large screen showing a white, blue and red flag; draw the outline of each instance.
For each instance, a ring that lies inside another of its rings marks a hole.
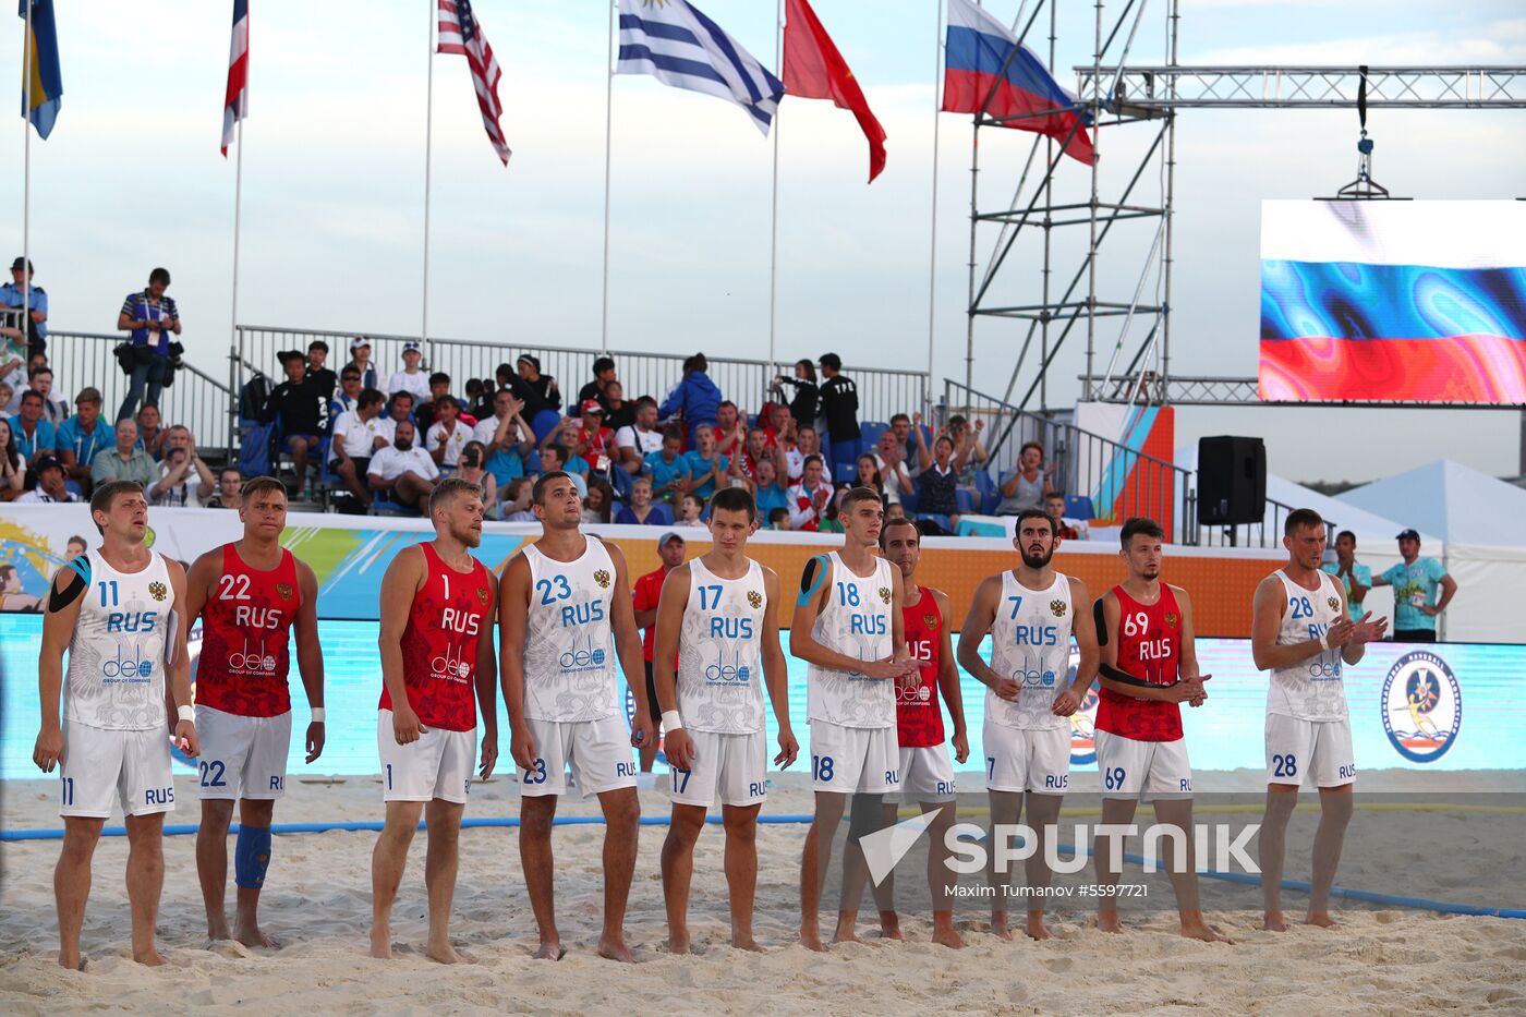
[[[1526,405],[1526,202],[1264,202],[1260,397]]]

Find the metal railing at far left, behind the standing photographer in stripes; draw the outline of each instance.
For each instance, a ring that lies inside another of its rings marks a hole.
[[[116,420],[127,397],[128,376],[118,365],[114,350],[125,341],[124,333],[47,333],[47,365],[53,370],[53,391],[69,400],[70,412],[79,389],[90,386],[101,389],[102,417]],[[238,447],[238,435],[229,415],[233,402],[233,391],[224,382],[182,357],[174,383],[159,394],[159,415],[165,428],[189,428],[197,447],[232,454]]]

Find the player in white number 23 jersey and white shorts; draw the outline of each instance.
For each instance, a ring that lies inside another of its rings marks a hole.
[[[536,956],[560,959],[552,892],[551,820],[566,770],[604,811],[604,928],[598,953],[633,960],[626,901],[636,867],[641,803],[630,747],[656,738],[645,696],[641,632],[626,556],[578,530],[583,504],[572,476],[543,473],[531,493],[542,534],[504,570],[501,672],[520,773],[519,857],[540,928]],[[636,699],[627,736],[618,715],[615,655]]]

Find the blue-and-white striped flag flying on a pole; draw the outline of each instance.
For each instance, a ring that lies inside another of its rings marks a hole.
[[[620,0],[617,72],[736,102],[765,136],[784,95],[752,53],[684,0]]]

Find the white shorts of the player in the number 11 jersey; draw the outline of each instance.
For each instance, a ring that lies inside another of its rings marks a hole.
[[[107,818],[116,791],[125,815],[175,811],[169,767],[169,731],[113,731],[64,721],[64,757],[58,768],[60,815]]]

